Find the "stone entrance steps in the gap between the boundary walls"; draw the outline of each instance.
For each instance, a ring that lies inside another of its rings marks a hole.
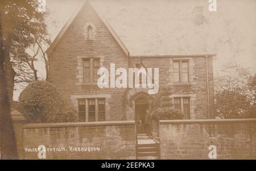
[[[137,134],[137,159],[159,159],[159,144],[147,134]]]

